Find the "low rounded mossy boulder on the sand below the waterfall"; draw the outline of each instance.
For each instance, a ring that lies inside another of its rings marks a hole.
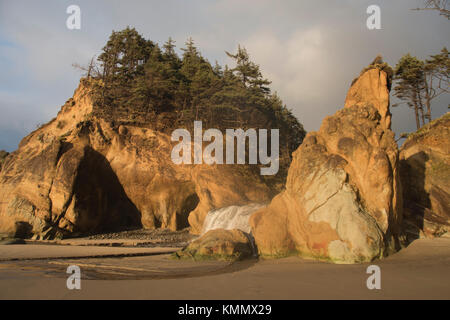
[[[251,257],[252,243],[241,230],[215,229],[191,242],[182,251],[176,253],[179,258],[195,260],[240,260]]]

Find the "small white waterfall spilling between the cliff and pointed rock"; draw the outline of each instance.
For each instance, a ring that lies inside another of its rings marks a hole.
[[[202,235],[214,229],[239,229],[250,234],[249,218],[256,210],[263,207],[265,205],[252,203],[245,206],[230,206],[212,210],[208,212],[205,218]]]

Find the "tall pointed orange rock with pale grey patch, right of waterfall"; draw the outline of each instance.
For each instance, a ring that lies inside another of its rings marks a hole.
[[[388,81],[379,68],[365,71],[345,107],[294,152],[286,190],[250,218],[262,256],[356,263],[399,247],[402,194]]]

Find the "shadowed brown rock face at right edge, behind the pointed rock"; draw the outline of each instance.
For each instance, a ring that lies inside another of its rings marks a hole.
[[[450,113],[410,135],[400,152],[405,229],[450,236]]]

